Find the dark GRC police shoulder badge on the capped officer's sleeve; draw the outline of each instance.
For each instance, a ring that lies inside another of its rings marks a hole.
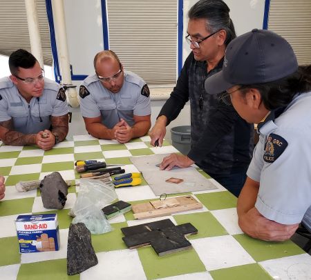
[[[276,161],[288,146],[288,141],[278,134],[270,134],[265,141],[265,153],[263,160],[268,163]]]

